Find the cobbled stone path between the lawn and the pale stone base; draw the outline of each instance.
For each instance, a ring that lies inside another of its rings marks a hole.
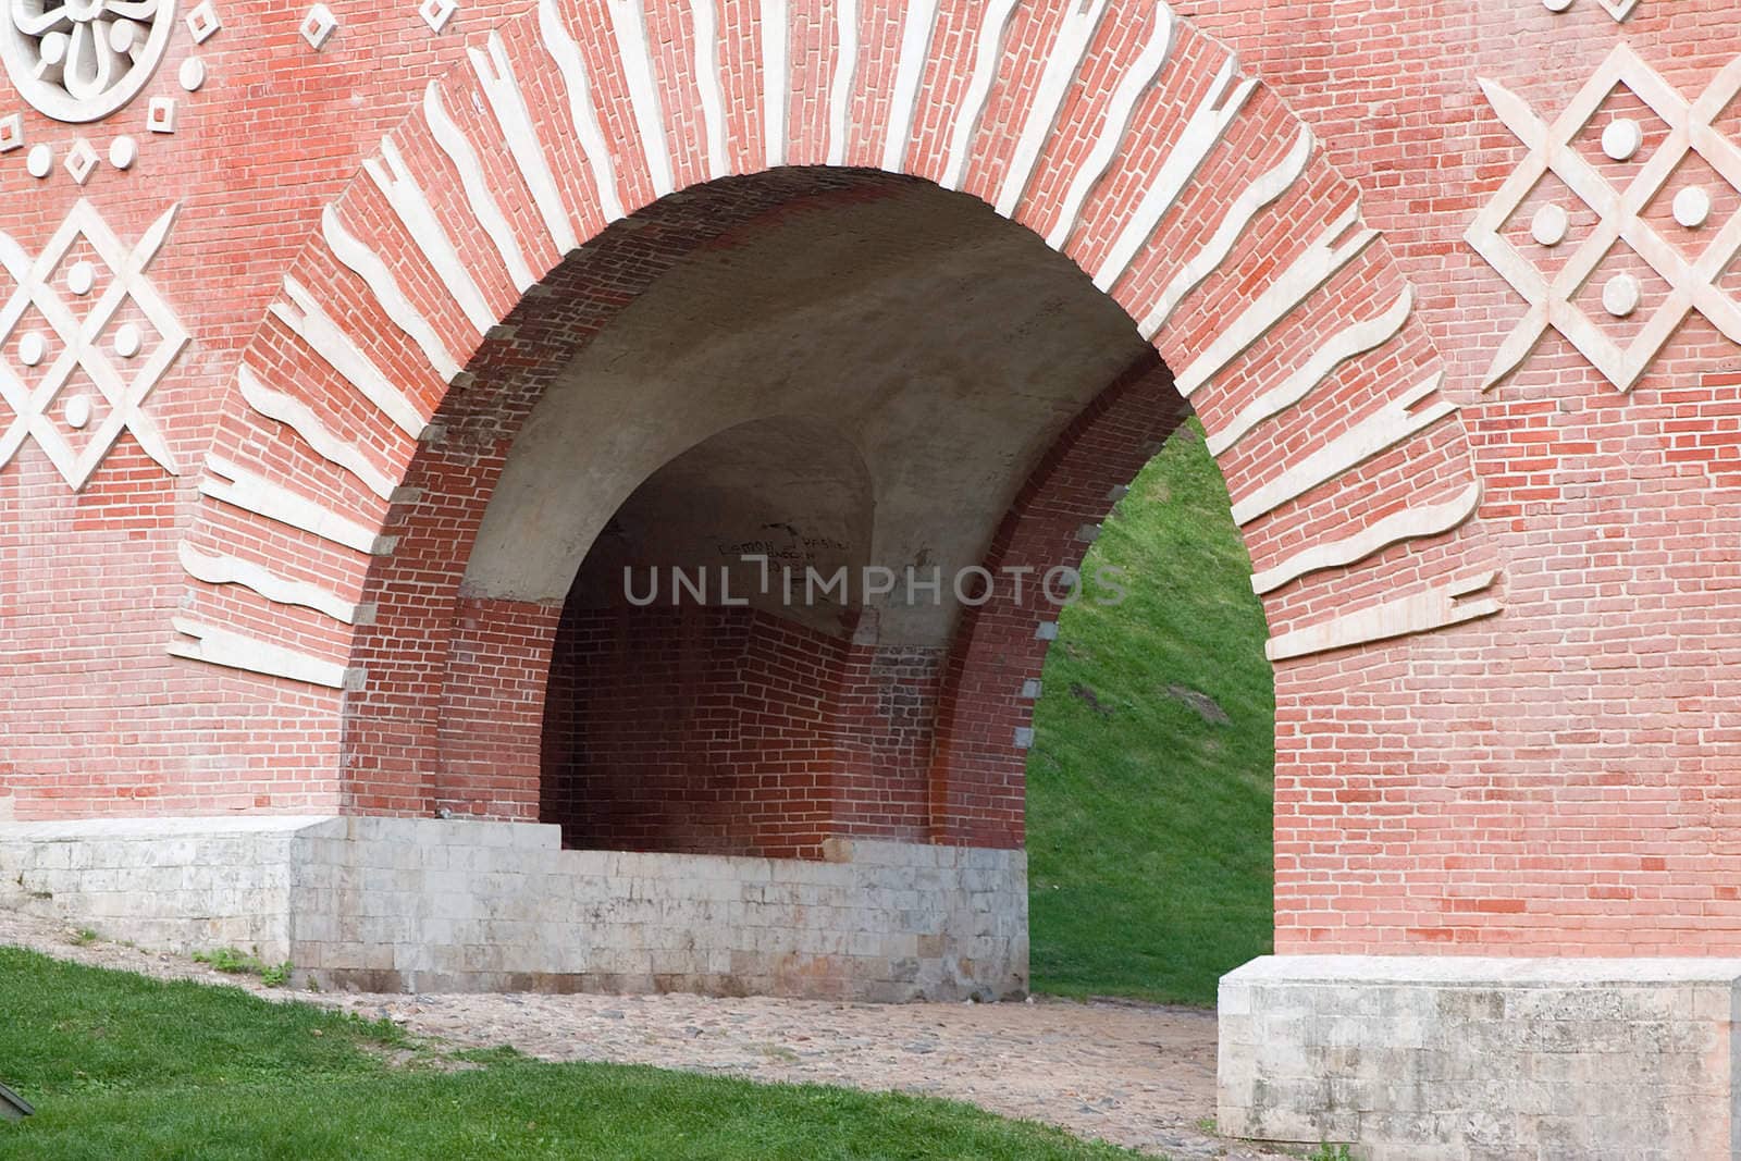
[[[218,975],[181,956],[75,947],[56,923],[0,910],[0,943],[155,976],[240,983],[465,1046],[545,1060],[649,1064],[898,1090],[1046,1121],[1177,1161],[1283,1161],[1207,1133],[1215,1114],[1215,1017],[1123,1003],[839,1004],[702,996],[303,994]]]

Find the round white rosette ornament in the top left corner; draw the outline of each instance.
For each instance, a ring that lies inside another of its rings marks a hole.
[[[91,122],[139,94],[174,30],[174,0],[3,0],[0,61],[37,111]]]

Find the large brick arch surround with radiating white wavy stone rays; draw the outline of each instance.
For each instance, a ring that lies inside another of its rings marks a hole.
[[[371,813],[432,809],[437,769],[514,782],[541,660],[468,625],[454,555],[536,392],[463,468],[440,451],[451,418],[498,371],[547,381],[622,305],[623,287],[564,285],[564,256],[674,191],[776,167],[978,197],[1139,324],[1236,498],[1271,656],[1294,674],[1283,731],[1365,663],[1348,651],[1382,661],[1400,637],[1497,611],[1466,435],[1435,395],[1442,360],[1358,191],[1165,5],[581,7],[543,0],[428,85],[326,207],[240,359],[171,651],[294,682],[320,728],[306,754],[279,745],[277,766],[339,775],[343,804]],[[1081,512],[1078,486],[1059,473],[1031,500]],[[522,637],[554,632],[550,609],[517,616]],[[977,681],[973,632],[959,688]],[[482,729],[453,712],[468,675],[493,691]],[[1005,778],[1008,724],[971,738],[945,722],[942,752]],[[1302,747],[1278,761],[1297,775]],[[938,832],[971,837],[949,802],[975,795],[938,785]],[[472,792],[524,816],[522,789]]]

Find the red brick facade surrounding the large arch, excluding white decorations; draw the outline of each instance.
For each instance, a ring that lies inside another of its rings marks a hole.
[[[660,96],[651,120],[663,127],[674,185],[691,186],[714,172],[703,101],[710,78],[695,75],[689,5],[646,7]],[[961,158],[952,144],[987,35],[985,9],[940,5],[930,52],[911,70],[912,131],[897,132],[890,150],[907,7],[858,5],[843,141],[832,139],[829,106],[836,7],[792,7],[792,70],[776,89],[789,127],[783,157],[818,164],[837,155],[865,167],[888,160],[918,178],[959,176],[963,190],[998,200],[1046,59],[1079,5],[1020,5]],[[192,336],[145,400],[179,475],[127,433],[84,491],[61,479],[33,439],[0,466],[0,811],[421,815],[481,802],[524,815],[536,754],[526,736],[541,715],[533,707],[536,642],[552,632],[555,611],[475,609],[460,594],[519,423],[587,336],[693,245],[794,197],[876,197],[877,183],[778,172],[740,183],[729,197],[662,202],[634,230],[601,233],[597,158],[578,143],[569,94],[526,3],[467,3],[442,35],[425,30],[411,5],[334,5],[341,28],[320,52],[296,35],[299,9],[258,0],[219,0],[218,9],[223,30],[212,40],[195,45],[178,30],[146,92],[103,122],[54,122],[0,80],[0,117],[19,110],[26,146],[49,144],[56,160],[37,179],[24,165],[30,148],[0,153],[0,230],[35,258],[89,202],[132,245],[179,205],[146,273]],[[1393,341],[1351,359],[1306,404],[1220,456],[1234,496],[1438,371],[1438,397],[1459,406],[1455,418],[1367,460],[1337,486],[1252,520],[1245,531],[1257,567],[1471,480],[1487,489],[1480,513],[1452,533],[1276,590],[1266,599],[1271,630],[1325,625],[1489,571],[1501,573],[1492,592],[1504,602],[1492,618],[1280,665],[1278,947],[1734,954],[1741,853],[1725,836],[1741,815],[1736,346],[1692,312],[1623,393],[1549,329],[1515,374],[1483,390],[1525,303],[1462,238],[1527,153],[1483,96],[1483,78],[1551,122],[1624,42],[1691,101],[1738,52],[1727,35],[1731,5],[1642,0],[1624,24],[1593,0],[1558,16],[1536,0],[1200,0],[1177,9],[1172,59],[1144,89],[1064,251],[1085,270],[1102,268],[1160,186],[1217,70],[1238,52],[1238,66],[1264,85],[1128,270],[1107,280],[1112,298],[1146,319],[1254,178],[1309,129],[1318,143],[1311,164],[1156,331],[1160,357],[1186,376],[1356,202],[1382,240],[1234,353],[1193,393],[1193,407],[1210,432],[1226,430],[1351,322],[1375,317],[1405,289],[1414,306]],[[557,12],[587,64],[618,195],[634,211],[655,186],[609,10],[587,0],[557,3]],[[733,0],[719,12],[719,96],[729,120],[723,153],[731,172],[756,172],[768,165],[763,131],[773,124],[763,94],[778,78],[763,68],[757,5]],[[1154,14],[1144,0],[1107,5],[1015,200],[1017,221],[1045,235],[1069,212],[1119,82],[1154,35]],[[493,31],[522,82],[569,226],[576,240],[594,238],[581,256],[562,261],[467,63],[465,50],[487,49]],[[195,54],[209,80],[188,94],[176,73]],[[521,301],[458,169],[418,111],[437,78],[550,298]],[[143,129],[153,96],[178,99],[174,134]],[[1635,97],[1621,96],[1596,129],[1623,110],[1649,120]],[[59,167],[75,138],[106,155],[122,132],[141,139],[132,169],[104,162],[75,185]],[[381,158],[385,134],[428,200],[423,221],[440,223],[477,280],[484,313],[507,317],[512,336],[482,339],[383,193],[359,176],[362,162]],[[1652,122],[1649,148],[1661,138]],[[1706,138],[1741,139],[1734,103]],[[1717,195],[1717,214],[1697,235],[1715,237],[1741,195],[1696,165],[1677,169],[1644,218],[1668,230],[1670,198],[1692,181]],[[475,378],[449,383],[427,345],[336,256],[322,235],[327,209],[397,280],[425,343],[434,336]],[[1590,225],[1579,211],[1579,228]],[[1523,245],[1523,230],[1513,235]],[[1645,273],[1630,258],[1616,261]],[[286,303],[286,273],[331,310],[420,416],[435,418],[421,440],[385,421],[331,359],[268,313]],[[1600,284],[1588,280],[1584,305]],[[1741,294],[1732,261],[1715,284],[1729,299]],[[0,301],[14,291],[14,277],[0,275]],[[1638,317],[1602,325],[1630,341],[1663,299],[1652,280]],[[31,315],[24,325],[44,324]],[[14,374],[16,350],[17,334],[0,336]],[[388,500],[359,484],[291,425],[254,409],[240,390],[242,367],[292,397],[399,491]],[[7,399],[0,430],[12,428],[17,392]],[[57,414],[47,421],[59,423]],[[397,543],[369,555],[204,498],[207,453]],[[1086,515],[1074,505],[1034,536],[1062,536]],[[1025,559],[1025,543],[1012,529],[999,552]],[[183,571],[183,547],[319,585],[336,601],[362,602],[373,620],[352,627],[247,585],[195,580]],[[172,658],[167,644],[183,641],[174,618],[352,667],[352,688]],[[498,637],[503,627],[521,634],[514,651]],[[1038,646],[1024,632],[992,614],[973,618],[951,654],[937,721],[944,759],[926,785],[938,837],[1018,834],[1018,754],[1003,738],[1025,721],[1022,705],[1010,703],[1015,679],[1038,672]],[[503,693],[512,695],[508,710],[496,701]],[[510,761],[491,764],[481,736]],[[911,825],[905,813],[895,816],[890,825]]]

